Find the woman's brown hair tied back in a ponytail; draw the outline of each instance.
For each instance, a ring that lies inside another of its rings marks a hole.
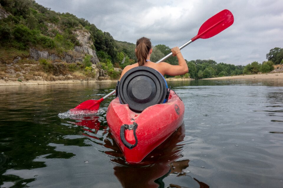
[[[136,57],[138,58],[139,66],[143,66],[147,61],[147,56],[151,49],[149,38],[141,37],[136,41]]]

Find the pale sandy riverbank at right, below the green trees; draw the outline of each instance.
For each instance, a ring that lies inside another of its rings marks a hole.
[[[266,74],[252,74],[252,75],[238,75],[238,76],[223,76],[217,78],[206,78],[203,80],[233,80],[233,79],[245,79],[245,80],[267,80],[267,79],[282,79],[283,73],[266,73]]]

